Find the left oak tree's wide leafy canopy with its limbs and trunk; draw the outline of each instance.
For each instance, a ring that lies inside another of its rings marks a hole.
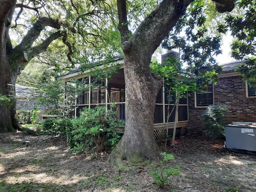
[[[115,2],[1,0],[0,7],[2,95],[15,96],[17,76],[35,57],[60,72],[120,50]],[[49,54],[53,52],[56,54]],[[0,121],[1,132],[19,129],[15,102],[11,108],[3,106],[0,115],[6,114]]]

